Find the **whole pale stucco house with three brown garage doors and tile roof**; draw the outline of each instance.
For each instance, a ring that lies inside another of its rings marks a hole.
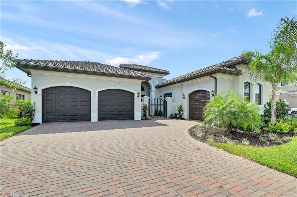
[[[149,105],[149,115],[165,117],[183,105],[184,118],[202,120],[206,101],[215,93],[233,89],[257,103],[260,111],[269,94],[268,83],[250,78],[242,56],[169,80],[163,79],[169,71],[136,64],[17,62],[17,68],[32,77],[38,123],[140,120],[143,104]]]

